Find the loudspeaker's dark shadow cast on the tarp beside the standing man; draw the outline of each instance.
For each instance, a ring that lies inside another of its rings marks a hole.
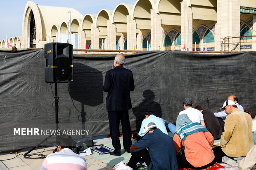
[[[81,102],[81,109],[76,108],[81,115],[78,120],[86,122],[85,105],[97,106],[103,103],[103,77],[102,72],[82,63],[73,63],[73,82],[69,83],[69,95],[73,100]],[[81,111],[80,111],[81,110]]]

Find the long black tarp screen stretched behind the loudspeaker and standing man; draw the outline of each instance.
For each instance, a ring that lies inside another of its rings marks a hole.
[[[13,135],[17,123],[55,123],[54,84],[44,81],[43,49],[0,51],[0,151],[19,149],[21,140]],[[109,134],[102,91],[105,73],[114,68],[114,56],[74,55],[74,81],[58,84],[59,122],[91,124],[92,136]],[[229,95],[239,104],[255,110],[256,52],[191,54],[182,51],[146,51],[126,55],[124,67],[133,71],[135,90],[130,93],[132,130],[140,128],[145,110],[175,123],[183,110],[183,99],[194,106],[218,112]],[[53,90],[53,93],[52,93]],[[121,129],[121,128],[120,128]],[[49,142],[54,141],[52,138]],[[22,138],[26,146],[40,140]]]

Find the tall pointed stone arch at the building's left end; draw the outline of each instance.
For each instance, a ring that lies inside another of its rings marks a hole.
[[[34,26],[34,28],[31,28],[31,26]],[[22,22],[22,37],[23,44],[28,44],[29,37],[31,48],[36,47],[36,45],[33,45],[34,39],[36,40],[36,42],[44,40],[40,12],[35,2],[32,1],[27,2],[24,10]],[[26,45],[24,46],[26,47]]]

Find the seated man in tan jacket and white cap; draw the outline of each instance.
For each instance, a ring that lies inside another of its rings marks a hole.
[[[232,100],[226,100],[220,109],[225,109],[228,116],[225,121],[225,131],[220,137],[220,146],[213,148],[214,160],[218,163],[223,157],[246,156],[249,149],[254,146],[251,116],[237,109],[237,105]]]

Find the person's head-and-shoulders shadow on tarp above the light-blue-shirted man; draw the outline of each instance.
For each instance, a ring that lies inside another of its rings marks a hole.
[[[136,130],[140,130],[140,126],[142,123],[142,120],[145,119],[145,112],[147,110],[152,110],[154,112],[154,115],[157,117],[162,117],[162,109],[158,102],[155,102],[155,94],[151,90],[145,90],[143,91],[144,99],[142,102],[136,106],[133,107],[133,114],[136,117]]]

